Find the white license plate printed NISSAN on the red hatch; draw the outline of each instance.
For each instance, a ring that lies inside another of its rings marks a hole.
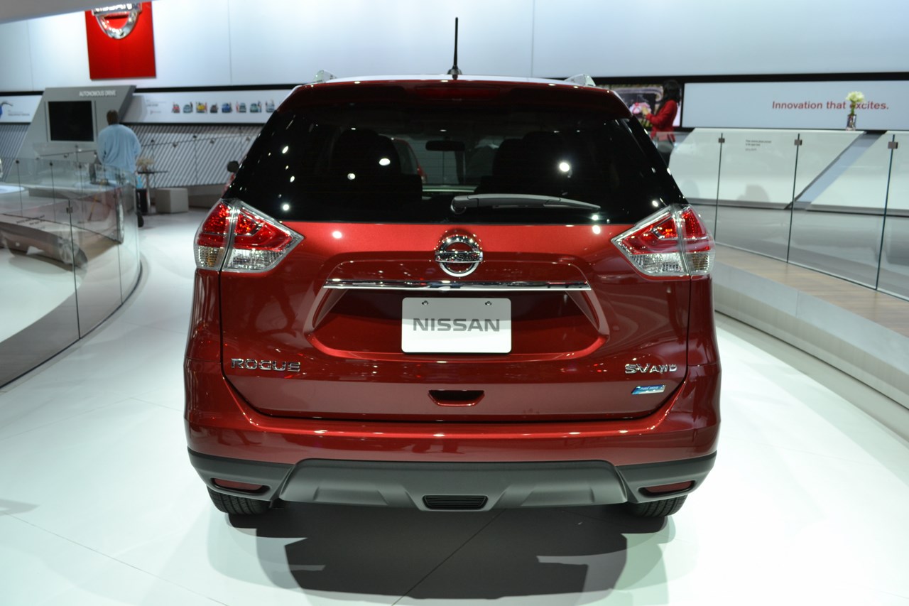
[[[511,300],[405,297],[401,348],[405,353],[508,353]]]

